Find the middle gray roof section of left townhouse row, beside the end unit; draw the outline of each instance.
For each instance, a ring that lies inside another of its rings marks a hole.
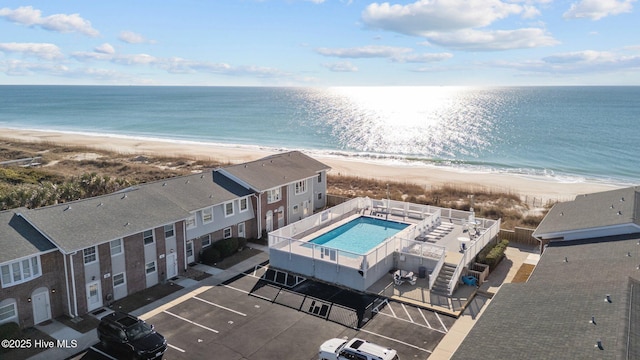
[[[200,210],[251,194],[237,184],[214,182],[212,171],[147,183],[139,189],[148,192],[149,196],[166,197],[186,211]]]

